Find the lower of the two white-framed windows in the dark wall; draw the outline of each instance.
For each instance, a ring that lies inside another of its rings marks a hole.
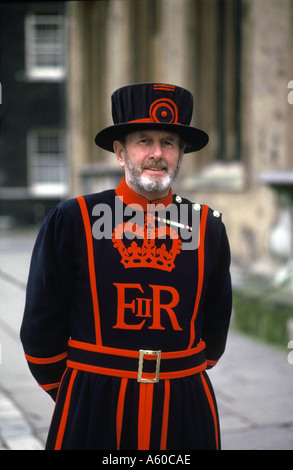
[[[33,131],[28,137],[31,191],[37,196],[67,193],[65,139],[59,130]]]

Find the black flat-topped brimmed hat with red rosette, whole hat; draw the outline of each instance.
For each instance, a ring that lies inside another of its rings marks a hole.
[[[139,129],[166,130],[178,134],[186,144],[185,153],[202,149],[208,135],[190,126],[192,94],[181,87],[163,83],[138,83],[116,90],[111,97],[114,125],[102,129],[96,144],[113,152],[113,142]]]

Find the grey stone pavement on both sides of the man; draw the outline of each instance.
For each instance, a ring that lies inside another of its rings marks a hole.
[[[42,450],[53,400],[31,376],[19,340],[34,230],[0,230],[0,450]],[[293,449],[293,359],[230,330],[209,371],[223,450]],[[292,345],[293,348],[293,345]]]

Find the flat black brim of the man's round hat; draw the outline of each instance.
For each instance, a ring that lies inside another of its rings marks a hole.
[[[135,132],[140,129],[175,132],[186,144],[184,153],[197,152],[205,147],[209,141],[209,136],[206,132],[196,127],[161,122],[130,122],[115,124],[102,129],[96,135],[95,142],[98,147],[108,150],[109,152],[114,152],[113,143],[115,140],[119,140],[130,132]]]

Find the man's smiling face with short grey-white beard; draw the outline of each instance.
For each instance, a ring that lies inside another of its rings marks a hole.
[[[175,180],[183,156],[179,136],[173,132],[144,130],[126,136],[125,145],[114,142],[128,186],[155,200],[165,197]]]

